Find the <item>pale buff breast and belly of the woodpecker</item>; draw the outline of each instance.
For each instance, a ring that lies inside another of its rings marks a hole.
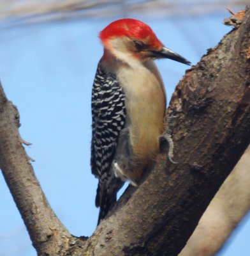
[[[150,70],[128,70],[118,77],[126,95],[130,140],[138,164],[148,163],[158,154],[166,109],[163,82],[154,63],[149,64]]]

